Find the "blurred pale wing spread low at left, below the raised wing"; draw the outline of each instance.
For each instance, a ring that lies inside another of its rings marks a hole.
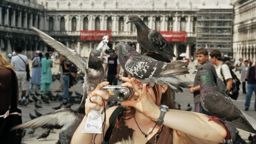
[[[39,127],[60,129],[62,126],[72,124],[74,121],[78,121],[78,117],[70,109],[64,108],[15,126],[11,130],[23,128],[35,129]]]

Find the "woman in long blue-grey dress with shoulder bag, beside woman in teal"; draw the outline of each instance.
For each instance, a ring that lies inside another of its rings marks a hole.
[[[32,71],[32,77],[31,77],[31,81],[30,81],[30,89],[33,89],[34,84],[36,85],[36,89],[39,90],[40,89],[40,85],[41,85],[41,58],[39,56],[40,51],[37,50],[36,51],[36,56],[33,58],[33,62],[32,65],[34,65],[35,63],[37,63],[37,66],[33,66],[33,71]]]

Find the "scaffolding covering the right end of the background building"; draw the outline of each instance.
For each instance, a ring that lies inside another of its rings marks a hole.
[[[203,9],[197,12],[196,49],[232,52],[232,9]]]

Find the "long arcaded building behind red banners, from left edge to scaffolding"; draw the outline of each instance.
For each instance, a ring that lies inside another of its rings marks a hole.
[[[38,49],[52,51],[29,29],[29,26],[36,26],[83,57],[88,57],[99,41],[80,40],[80,30],[111,30],[110,47],[118,42],[134,43],[141,52],[136,27],[126,24],[130,15],[137,14],[149,28],[186,31],[186,42],[170,42],[170,45],[176,56],[186,53],[186,57],[191,58],[196,49],[198,11],[230,8],[230,0],[2,0],[1,47],[9,52],[20,44],[30,54]],[[21,16],[9,11],[19,11]],[[18,32],[20,34],[16,34]]]

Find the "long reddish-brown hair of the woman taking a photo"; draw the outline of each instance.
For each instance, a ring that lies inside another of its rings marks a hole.
[[[158,58],[162,58],[162,56],[160,56],[160,54],[157,54],[155,52],[146,52],[144,53],[144,55],[146,56],[150,56],[151,58],[154,58],[156,60],[158,60]],[[162,59],[159,59],[162,60]],[[128,77],[128,74],[126,74],[124,72],[123,77]],[[159,95],[160,95],[160,87],[161,85],[155,84],[152,88],[154,91],[154,94],[156,96],[156,105],[158,105],[158,100],[159,100]],[[174,91],[172,90],[172,88],[170,88],[170,86],[168,86],[167,90],[162,94],[162,99],[160,102],[161,104],[164,104],[166,106],[168,106],[170,109],[177,109],[174,106],[174,103],[172,101],[172,97],[174,97]],[[125,120],[128,120],[130,118],[133,117],[133,115],[135,114],[136,110],[134,107],[132,106],[128,106],[128,108],[126,108],[125,111],[123,111],[118,117],[117,117],[117,124],[120,124],[120,121],[122,118],[124,118]]]

